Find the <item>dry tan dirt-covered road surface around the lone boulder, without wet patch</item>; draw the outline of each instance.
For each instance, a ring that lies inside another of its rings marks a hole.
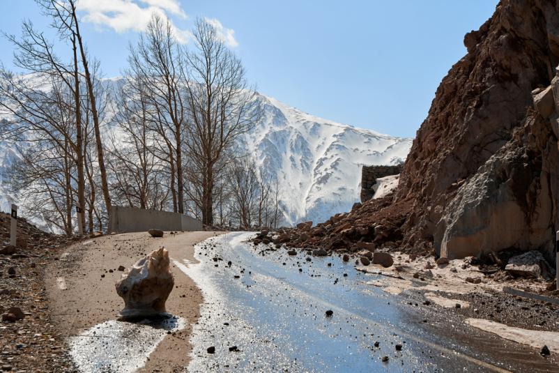
[[[162,246],[173,259],[196,262],[194,245],[217,234],[222,232],[166,232],[163,238],[152,238],[141,232],[103,236],[72,245],[48,268],[45,278],[54,323],[63,336],[71,337],[116,319],[123,307],[114,288],[122,275],[119,266],[128,268]],[[175,288],[167,300],[167,312],[186,319],[187,326],[164,338],[151,353],[143,372],[182,372],[189,361],[190,333],[203,298],[194,282],[172,262],[171,271]]]

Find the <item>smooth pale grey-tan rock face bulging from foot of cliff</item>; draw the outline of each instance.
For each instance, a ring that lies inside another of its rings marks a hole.
[[[461,259],[507,248],[551,250],[559,179],[556,139],[541,119],[529,123],[539,133],[541,165],[526,162],[525,148],[504,146],[446,203],[436,222],[434,246],[441,257]],[[536,146],[537,145],[537,146]],[[539,169],[537,168],[539,167]],[[536,177],[537,176],[537,177]],[[526,201],[529,201],[527,204]]]

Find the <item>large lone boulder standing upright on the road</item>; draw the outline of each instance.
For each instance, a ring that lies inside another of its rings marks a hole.
[[[165,302],[173,289],[169,252],[155,250],[123,273],[116,293],[124,300],[124,318],[146,317],[165,312]]]

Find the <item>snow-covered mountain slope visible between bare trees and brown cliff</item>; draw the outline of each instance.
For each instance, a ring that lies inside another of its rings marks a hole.
[[[286,224],[323,222],[359,201],[362,165],[397,165],[411,139],[381,135],[321,119],[260,96],[261,123],[247,150],[280,183]]]

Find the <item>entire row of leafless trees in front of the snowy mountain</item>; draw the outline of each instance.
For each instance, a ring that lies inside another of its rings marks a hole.
[[[186,48],[153,17],[112,87],[86,52],[75,0],[36,2],[72,59],[31,22],[8,36],[28,74],[1,71],[9,120],[0,133],[24,144],[10,180],[29,213],[66,234],[75,223],[102,229],[113,203],[191,213],[206,225],[280,222],[277,183],[236,151],[260,119],[259,101],[213,26],[197,21]]]

